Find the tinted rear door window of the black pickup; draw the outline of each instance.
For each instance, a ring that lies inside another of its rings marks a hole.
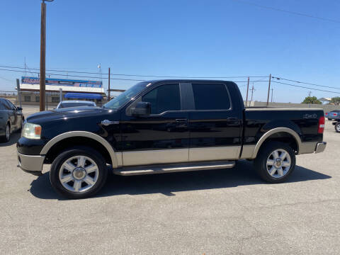
[[[230,98],[224,84],[193,84],[196,110],[227,110]]]

